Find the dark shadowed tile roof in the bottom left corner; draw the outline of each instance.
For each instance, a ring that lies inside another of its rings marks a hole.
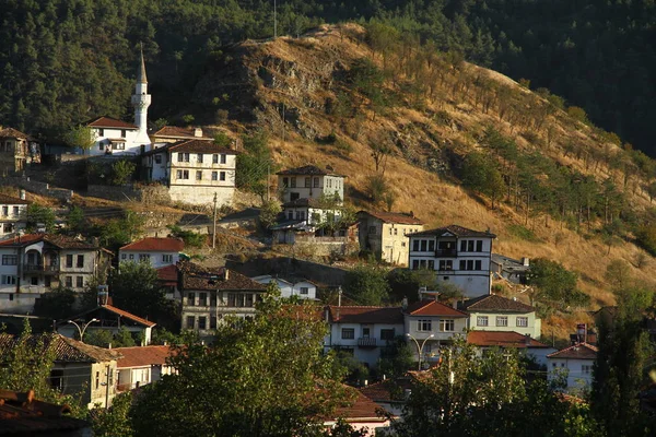
[[[0,389],[2,435],[72,435],[75,429],[90,428],[87,422],[66,415],[70,412],[68,405],[36,400],[33,390],[19,393]]]

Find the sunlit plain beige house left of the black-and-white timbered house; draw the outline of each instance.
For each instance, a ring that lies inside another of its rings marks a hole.
[[[371,250],[377,260],[408,265],[408,234],[423,231],[423,223],[413,214],[360,211],[360,248]]]

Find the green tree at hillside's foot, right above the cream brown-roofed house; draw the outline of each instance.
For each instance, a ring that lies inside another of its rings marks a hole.
[[[578,275],[561,263],[544,258],[531,261],[530,284],[537,288],[537,300],[559,306],[583,306],[589,296],[577,288]]]

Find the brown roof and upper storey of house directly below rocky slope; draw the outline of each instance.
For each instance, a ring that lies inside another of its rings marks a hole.
[[[297,199],[315,199],[321,196],[344,199],[344,177],[332,168],[321,169],[315,165],[278,172],[278,189],[283,203]]]

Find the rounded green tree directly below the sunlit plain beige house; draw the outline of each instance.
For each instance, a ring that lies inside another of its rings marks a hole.
[[[382,305],[389,299],[387,272],[376,265],[360,264],[347,272],[344,293],[358,305]]]

